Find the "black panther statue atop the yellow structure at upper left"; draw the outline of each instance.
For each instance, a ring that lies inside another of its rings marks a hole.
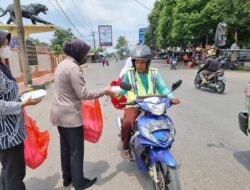
[[[31,3],[27,6],[22,5],[21,11],[22,11],[22,17],[31,19],[31,22],[33,24],[36,24],[36,22],[40,22],[43,24],[51,24],[50,22],[47,22],[37,16],[40,12],[42,12],[43,14],[47,14],[48,8],[45,5],[39,3],[37,4]],[[0,8],[0,12],[1,12],[0,17],[6,15],[7,13],[10,14],[10,18],[8,19],[7,24],[10,24],[11,22],[15,23],[15,10],[13,4],[8,5],[6,10]]]

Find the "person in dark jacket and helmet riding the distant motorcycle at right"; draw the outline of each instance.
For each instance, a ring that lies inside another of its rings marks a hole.
[[[204,70],[200,72],[202,80],[201,85],[207,82],[206,76],[212,72],[216,72],[219,69],[219,59],[216,56],[216,50],[214,48],[207,51],[207,60],[204,65]]]

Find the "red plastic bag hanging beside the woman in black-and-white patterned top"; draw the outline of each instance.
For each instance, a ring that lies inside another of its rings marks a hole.
[[[35,169],[47,158],[49,145],[48,130],[40,132],[36,122],[24,112],[27,137],[24,140],[24,157],[26,166]]]

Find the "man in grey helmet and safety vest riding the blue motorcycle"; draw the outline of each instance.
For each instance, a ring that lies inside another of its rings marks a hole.
[[[122,90],[116,97],[121,97],[128,93],[127,102],[132,102],[137,96],[167,95],[172,104],[180,103],[178,98],[174,98],[163,82],[158,70],[150,67],[151,50],[146,45],[137,46],[131,55],[132,68],[124,75],[123,82],[130,83],[132,90]],[[133,125],[139,112],[134,107],[125,108],[121,127],[121,139],[123,142],[123,158],[130,158],[129,141],[133,132]]]

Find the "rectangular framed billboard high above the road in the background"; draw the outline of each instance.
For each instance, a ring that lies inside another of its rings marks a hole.
[[[99,25],[99,44],[100,46],[112,46],[112,26]]]

